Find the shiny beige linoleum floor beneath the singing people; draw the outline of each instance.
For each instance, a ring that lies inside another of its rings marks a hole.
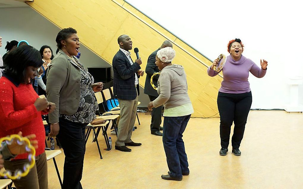
[[[150,115],[139,113],[141,125],[133,132],[132,152],[105,151],[103,159],[90,137],[86,145],[83,188],[303,188],[303,114],[250,111],[241,156],[220,156],[219,118],[191,118],[184,132],[190,175],[166,181],[168,171],[162,138],[150,134]],[[110,130],[108,131],[110,133]],[[109,134],[110,136],[110,134]],[[112,135],[113,147],[116,136]],[[63,177],[64,154],[56,157]],[[60,188],[52,160],[49,188]]]

